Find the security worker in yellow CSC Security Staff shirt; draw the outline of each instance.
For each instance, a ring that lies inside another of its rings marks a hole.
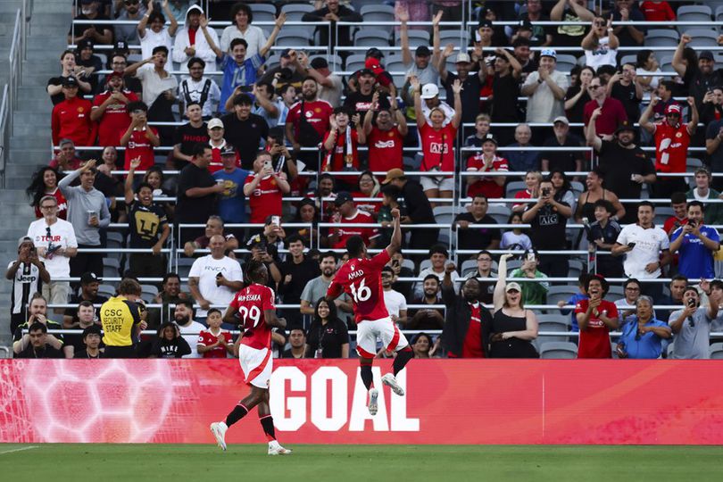
[[[132,358],[136,352],[133,337],[147,327],[141,320],[137,300],[141,287],[135,279],[125,278],[118,285],[118,295],[103,303],[100,320],[103,325],[105,358]],[[136,333],[132,333],[134,331]]]

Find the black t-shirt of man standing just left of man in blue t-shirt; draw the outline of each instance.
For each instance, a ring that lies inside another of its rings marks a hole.
[[[179,174],[178,202],[176,220],[186,223],[204,223],[216,212],[216,195],[188,197],[186,191],[192,187],[212,187],[216,184],[207,169],[188,164]]]

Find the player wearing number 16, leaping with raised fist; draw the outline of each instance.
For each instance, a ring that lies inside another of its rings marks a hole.
[[[389,352],[396,352],[394,375],[386,373],[381,380],[391,387],[396,395],[404,395],[404,389],[396,381],[396,374],[413,356],[409,343],[402,332],[389,318],[384,303],[384,289],[381,285],[381,270],[391,260],[392,254],[402,246],[402,228],[399,226],[399,210],[392,210],[394,233],[386,249],[373,258],[367,257],[367,246],[361,236],[346,241],[349,261],[339,268],[327,291],[327,302],[333,303],[342,292],[352,297],[354,320],[356,321],[356,351],[362,365],[362,381],[369,391],[369,411],[378,410],[378,389],[374,387],[371,363],[377,353],[377,338]]]

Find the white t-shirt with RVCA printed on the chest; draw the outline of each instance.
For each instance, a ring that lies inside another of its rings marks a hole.
[[[206,300],[212,304],[228,306],[236,293],[229,287],[216,286],[216,275],[219,273],[229,281],[241,281],[244,278],[241,265],[236,260],[232,260],[229,256],[214,260],[211,254],[195,260],[188,272],[188,278],[198,278],[198,290]],[[206,311],[199,308],[195,316],[205,318]],[[194,338],[194,343],[196,339]]]

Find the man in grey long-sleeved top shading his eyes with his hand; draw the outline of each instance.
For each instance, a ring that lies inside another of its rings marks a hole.
[[[80,185],[71,187],[71,183],[78,178]],[[95,181],[96,160],[92,159],[58,183],[62,195],[68,200],[68,220],[80,249],[102,247],[100,229],[107,228],[111,223],[105,196],[93,187]],[[86,271],[93,271],[98,277],[103,276],[103,253],[78,253],[73,257],[71,276],[80,276]],[[54,278],[52,272],[51,278]]]

